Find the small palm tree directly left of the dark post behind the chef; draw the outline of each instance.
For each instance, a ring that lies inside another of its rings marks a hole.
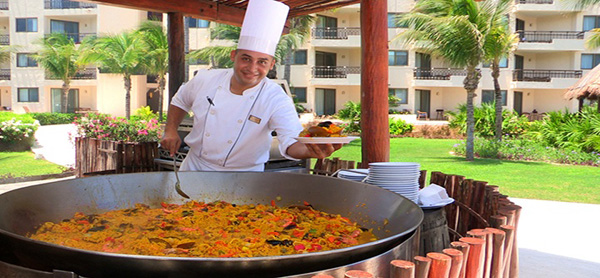
[[[169,71],[169,42],[163,27],[152,21],[142,23],[137,33],[144,42],[146,54],[142,58],[145,71],[158,76],[158,118],[162,119],[165,75]]]

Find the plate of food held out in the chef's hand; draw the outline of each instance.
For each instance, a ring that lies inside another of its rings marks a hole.
[[[357,136],[342,134],[344,129],[330,121],[321,122],[302,130],[295,139],[304,144],[348,144]]]

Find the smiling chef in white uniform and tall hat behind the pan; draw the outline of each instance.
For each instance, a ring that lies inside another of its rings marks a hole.
[[[273,0],[250,0],[232,69],[199,71],[181,86],[167,114],[163,148],[171,156],[181,139],[177,128],[188,112],[194,127],[185,143],[190,150],[182,171],[263,171],[269,159],[271,132],[277,132],[279,151],[292,160],[325,158],[341,144],[302,144],[302,131],[292,99],[266,78],[275,66],[289,7]]]

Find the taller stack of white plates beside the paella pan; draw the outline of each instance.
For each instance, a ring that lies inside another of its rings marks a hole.
[[[366,182],[396,192],[417,202],[421,165],[414,162],[369,163]]]

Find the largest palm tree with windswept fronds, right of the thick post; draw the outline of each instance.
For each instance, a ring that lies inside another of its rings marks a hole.
[[[466,68],[463,84],[467,91],[466,160],[474,159],[473,98],[481,73],[477,69],[484,61],[484,38],[490,31],[489,20],[495,13],[494,1],[422,0],[402,16],[399,23],[409,26],[398,36],[408,44],[430,54],[443,57],[453,66]]]

